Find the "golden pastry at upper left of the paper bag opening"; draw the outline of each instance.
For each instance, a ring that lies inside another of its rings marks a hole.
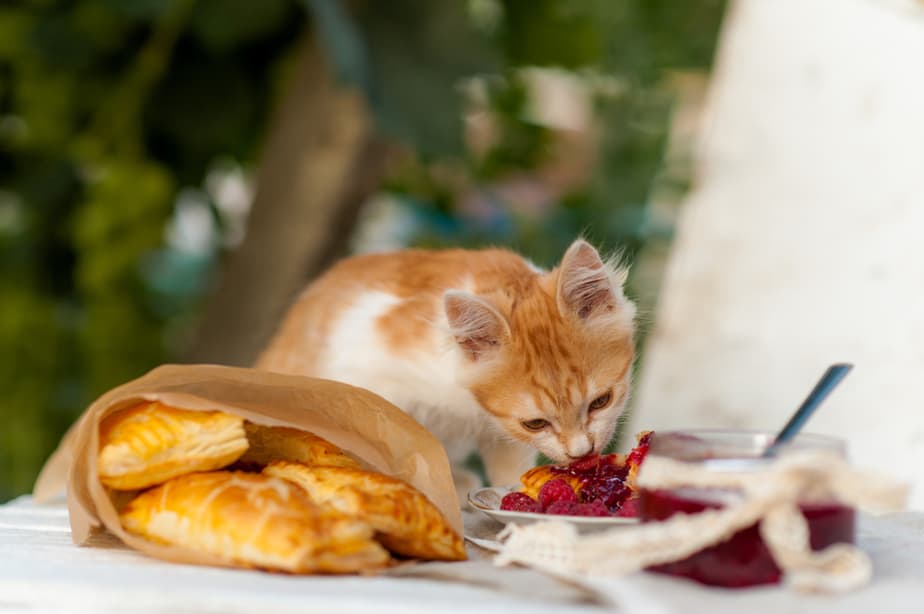
[[[247,449],[244,420],[220,411],[143,403],[107,416],[99,429],[100,481],[118,490],[225,467]]]

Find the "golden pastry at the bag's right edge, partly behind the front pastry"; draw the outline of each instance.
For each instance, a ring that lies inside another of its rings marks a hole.
[[[401,480],[343,467],[308,467],[277,461],[263,473],[298,484],[323,505],[362,519],[397,554],[421,559],[464,560],[462,538],[420,491]]]

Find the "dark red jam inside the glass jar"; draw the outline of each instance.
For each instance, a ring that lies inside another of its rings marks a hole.
[[[693,489],[684,491],[642,490],[639,496],[642,522],[665,520],[677,513],[695,514],[723,507],[715,497],[697,498]],[[808,522],[813,550],[835,543],[853,543],[855,512],[839,503],[800,505]],[[740,588],[776,584],[780,569],[760,537],[757,525],[732,535],[728,540],[706,548],[682,561],[649,568],[650,571],[683,576],[713,586]]]

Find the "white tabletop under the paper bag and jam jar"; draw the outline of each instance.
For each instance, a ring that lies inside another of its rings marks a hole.
[[[466,527],[481,536],[495,528],[474,514]],[[924,514],[864,518],[859,540],[876,579],[838,597],[709,589],[644,573],[577,587],[495,568],[474,546],[469,562],[417,565],[404,577],[286,576],[164,563],[109,534],[77,547],[63,505],[22,497],[0,506],[0,612],[924,612]]]

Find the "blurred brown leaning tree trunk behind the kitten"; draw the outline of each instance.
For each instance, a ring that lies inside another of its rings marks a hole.
[[[386,158],[359,91],[336,82],[314,36],[272,122],[247,235],[224,266],[190,362],[248,365],[288,304],[339,255]]]

